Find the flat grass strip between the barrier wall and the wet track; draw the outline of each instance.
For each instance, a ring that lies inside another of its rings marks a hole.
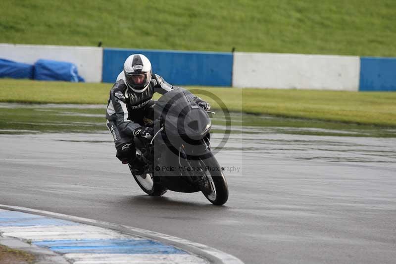
[[[107,104],[111,84],[0,80],[0,102]],[[219,109],[396,127],[396,93],[190,87]],[[215,97],[209,97],[207,93]],[[158,94],[154,99],[159,97]]]

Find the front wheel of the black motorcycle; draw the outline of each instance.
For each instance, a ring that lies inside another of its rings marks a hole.
[[[201,186],[203,195],[215,206],[224,205],[228,200],[228,185],[222,168],[214,156],[204,160],[200,159],[199,162],[201,168],[210,168],[203,171],[205,174],[204,177],[207,179],[207,184],[209,187],[211,186],[211,188]]]

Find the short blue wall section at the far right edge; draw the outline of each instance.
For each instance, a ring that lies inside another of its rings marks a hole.
[[[396,91],[396,58],[360,57],[359,91]]]

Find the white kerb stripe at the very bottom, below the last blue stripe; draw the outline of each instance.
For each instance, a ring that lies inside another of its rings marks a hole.
[[[115,264],[115,263],[172,263],[208,264],[202,259],[188,254],[65,254],[73,264]]]

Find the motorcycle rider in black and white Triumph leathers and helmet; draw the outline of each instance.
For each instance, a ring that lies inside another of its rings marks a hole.
[[[124,69],[110,90],[106,125],[114,139],[116,157],[123,164],[130,163],[137,175],[143,173],[143,164],[136,158],[133,138],[151,140],[155,104],[151,98],[155,92],[165,94],[172,89],[179,88],[152,74],[151,63],[145,55],[132,54],[125,60]],[[199,97],[193,100],[204,110],[210,110],[210,105]]]

